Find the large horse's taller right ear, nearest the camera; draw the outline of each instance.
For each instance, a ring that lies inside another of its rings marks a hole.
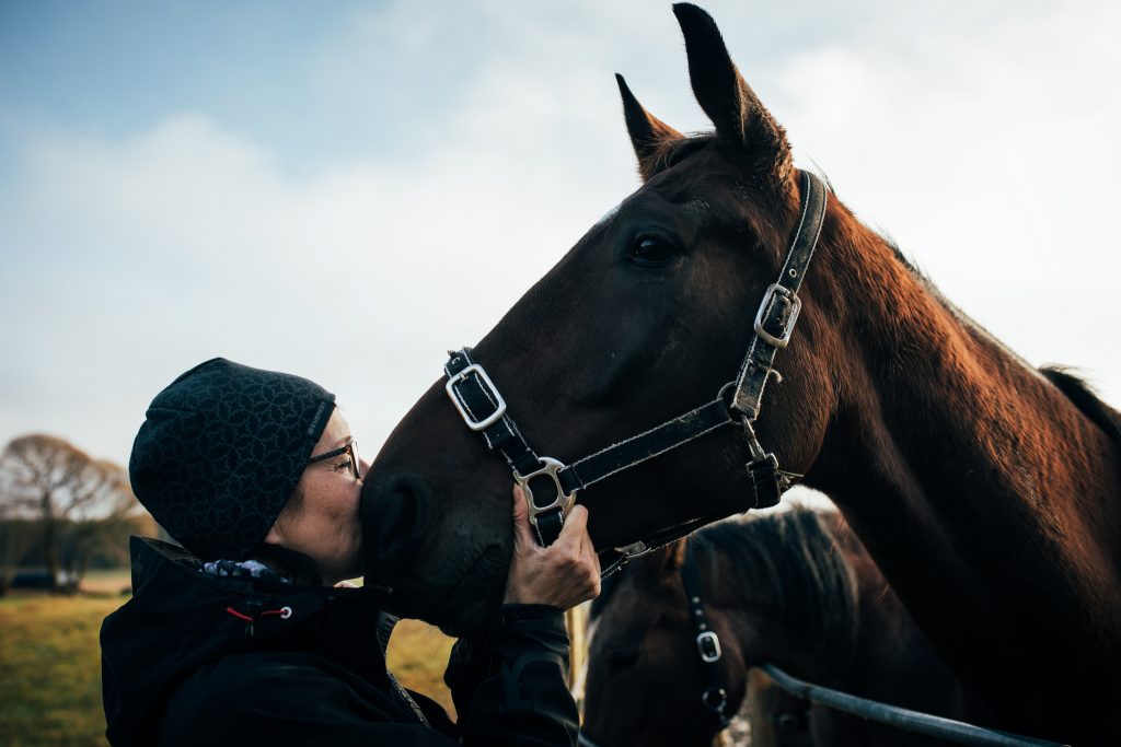
[[[732,63],[716,21],[687,2],[675,4],[674,15],[685,36],[693,93],[716,136],[741,149],[752,170],[786,181],[793,170],[786,132]]]

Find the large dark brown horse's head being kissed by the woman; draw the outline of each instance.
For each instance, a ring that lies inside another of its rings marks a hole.
[[[782,128],[740,76],[712,18],[689,4],[674,12],[715,132],[678,133],[620,77],[641,188],[474,347],[529,443],[566,464],[717,398],[799,224],[802,181]],[[485,288],[485,278],[481,267],[464,284]],[[825,364],[835,333],[822,319],[835,292],[817,292],[819,282],[813,272],[806,279],[803,320],[779,358],[785,382],[768,390],[757,422],[760,441],[795,473],[813,464],[834,405]],[[596,548],[744,511],[748,458],[740,429],[725,428],[581,491]],[[367,479],[369,577],[395,588],[396,611],[453,632],[478,623],[501,597],[510,502],[509,468],[465,427],[438,381]]]

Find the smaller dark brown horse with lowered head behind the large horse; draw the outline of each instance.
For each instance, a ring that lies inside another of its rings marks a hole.
[[[696,570],[687,595],[688,564]],[[696,642],[697,605],[719,636],[712,663]],[[581,734],[597,747],[712,744],[740,710],[748,670],[765,663],[864,698],[963,716],[957,681],[835,512],[723,522],[651,553],[605,581],[591,629]],[[704,702],[714,687],[728,693],[719,713],[719,702]],[[781,744],[935,741],[800,699],[787,704],[796,707],[771,715]]]

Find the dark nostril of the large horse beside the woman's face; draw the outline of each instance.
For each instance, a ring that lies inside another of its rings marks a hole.
[[[420,502],[406,480],[362,494],[362,534],[368,582],[392,582],[393,569],[411,563],[420,550]]]

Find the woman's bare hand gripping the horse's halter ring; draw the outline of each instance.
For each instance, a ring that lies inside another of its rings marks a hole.
[[[600,558],[587,534],[587,508],[575,506],[560,536],[547,548],[537,544],[521,488],[513,487],[513,559],[506,579],[503,604],[575,607],[600,596]]]

